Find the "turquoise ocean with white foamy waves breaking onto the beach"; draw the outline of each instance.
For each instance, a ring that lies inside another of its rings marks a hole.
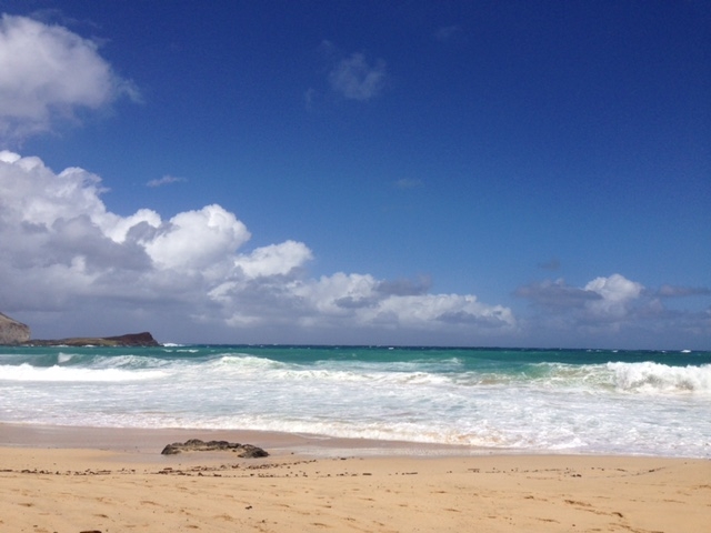
[[[0,346],[0,423],[711,457],[711,352]]]

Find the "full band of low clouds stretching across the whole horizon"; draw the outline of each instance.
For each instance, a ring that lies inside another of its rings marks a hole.
[[[306,243],[287,240],[249,250],[247,225],[221,205],[168,220],[148,208],[121,217],[102,201],[98,175],[80,168],[56,173],[39,158],[7,150],[0,152],[0,189],[6,312],[53,312],[91,324],[116,310],[126,320],[194,342],[211,341],[200,331],[217,332],[221,340],[278,331],[282,342],[337,342],[341,335],[402,343],[430,335],[438,343],[505,344],[508,339],[517,344],[541,329],[592,336],[667,321],[694,334],[711,321],[708,311],[680,313],[662,305],[662,299],[707,289],[651,291],[617,273],[580,288],[563,280],[519,288],[517,295],[538,309],[530,318],[473,294],[432,294],[429,279],[346,272],[316,278]]]

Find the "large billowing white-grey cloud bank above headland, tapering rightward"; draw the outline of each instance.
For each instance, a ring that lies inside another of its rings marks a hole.
[[[309,276],[313,253],[302,242],[247,251],[246,224],[218,204],[169,220],[151,209],[121,217],[101,200],[99,177],[79,168],[54,173],[10,151],[0,152],[0,188],[7,311],[121,302],[167,305],[173,316],[229,329],[515,329],[510,309],[471,294],[429,294],[422,283],[370,274]]]

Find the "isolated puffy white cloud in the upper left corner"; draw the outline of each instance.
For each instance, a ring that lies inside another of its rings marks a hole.
[[[27,17],[0,19],[0,138],[51,130],[78,109],[99,109],[121,95],[140,99],[94,42]]]

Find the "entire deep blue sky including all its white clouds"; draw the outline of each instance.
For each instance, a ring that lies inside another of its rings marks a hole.
[[[34,336],[711,349],[707,2],[0,12]]]

